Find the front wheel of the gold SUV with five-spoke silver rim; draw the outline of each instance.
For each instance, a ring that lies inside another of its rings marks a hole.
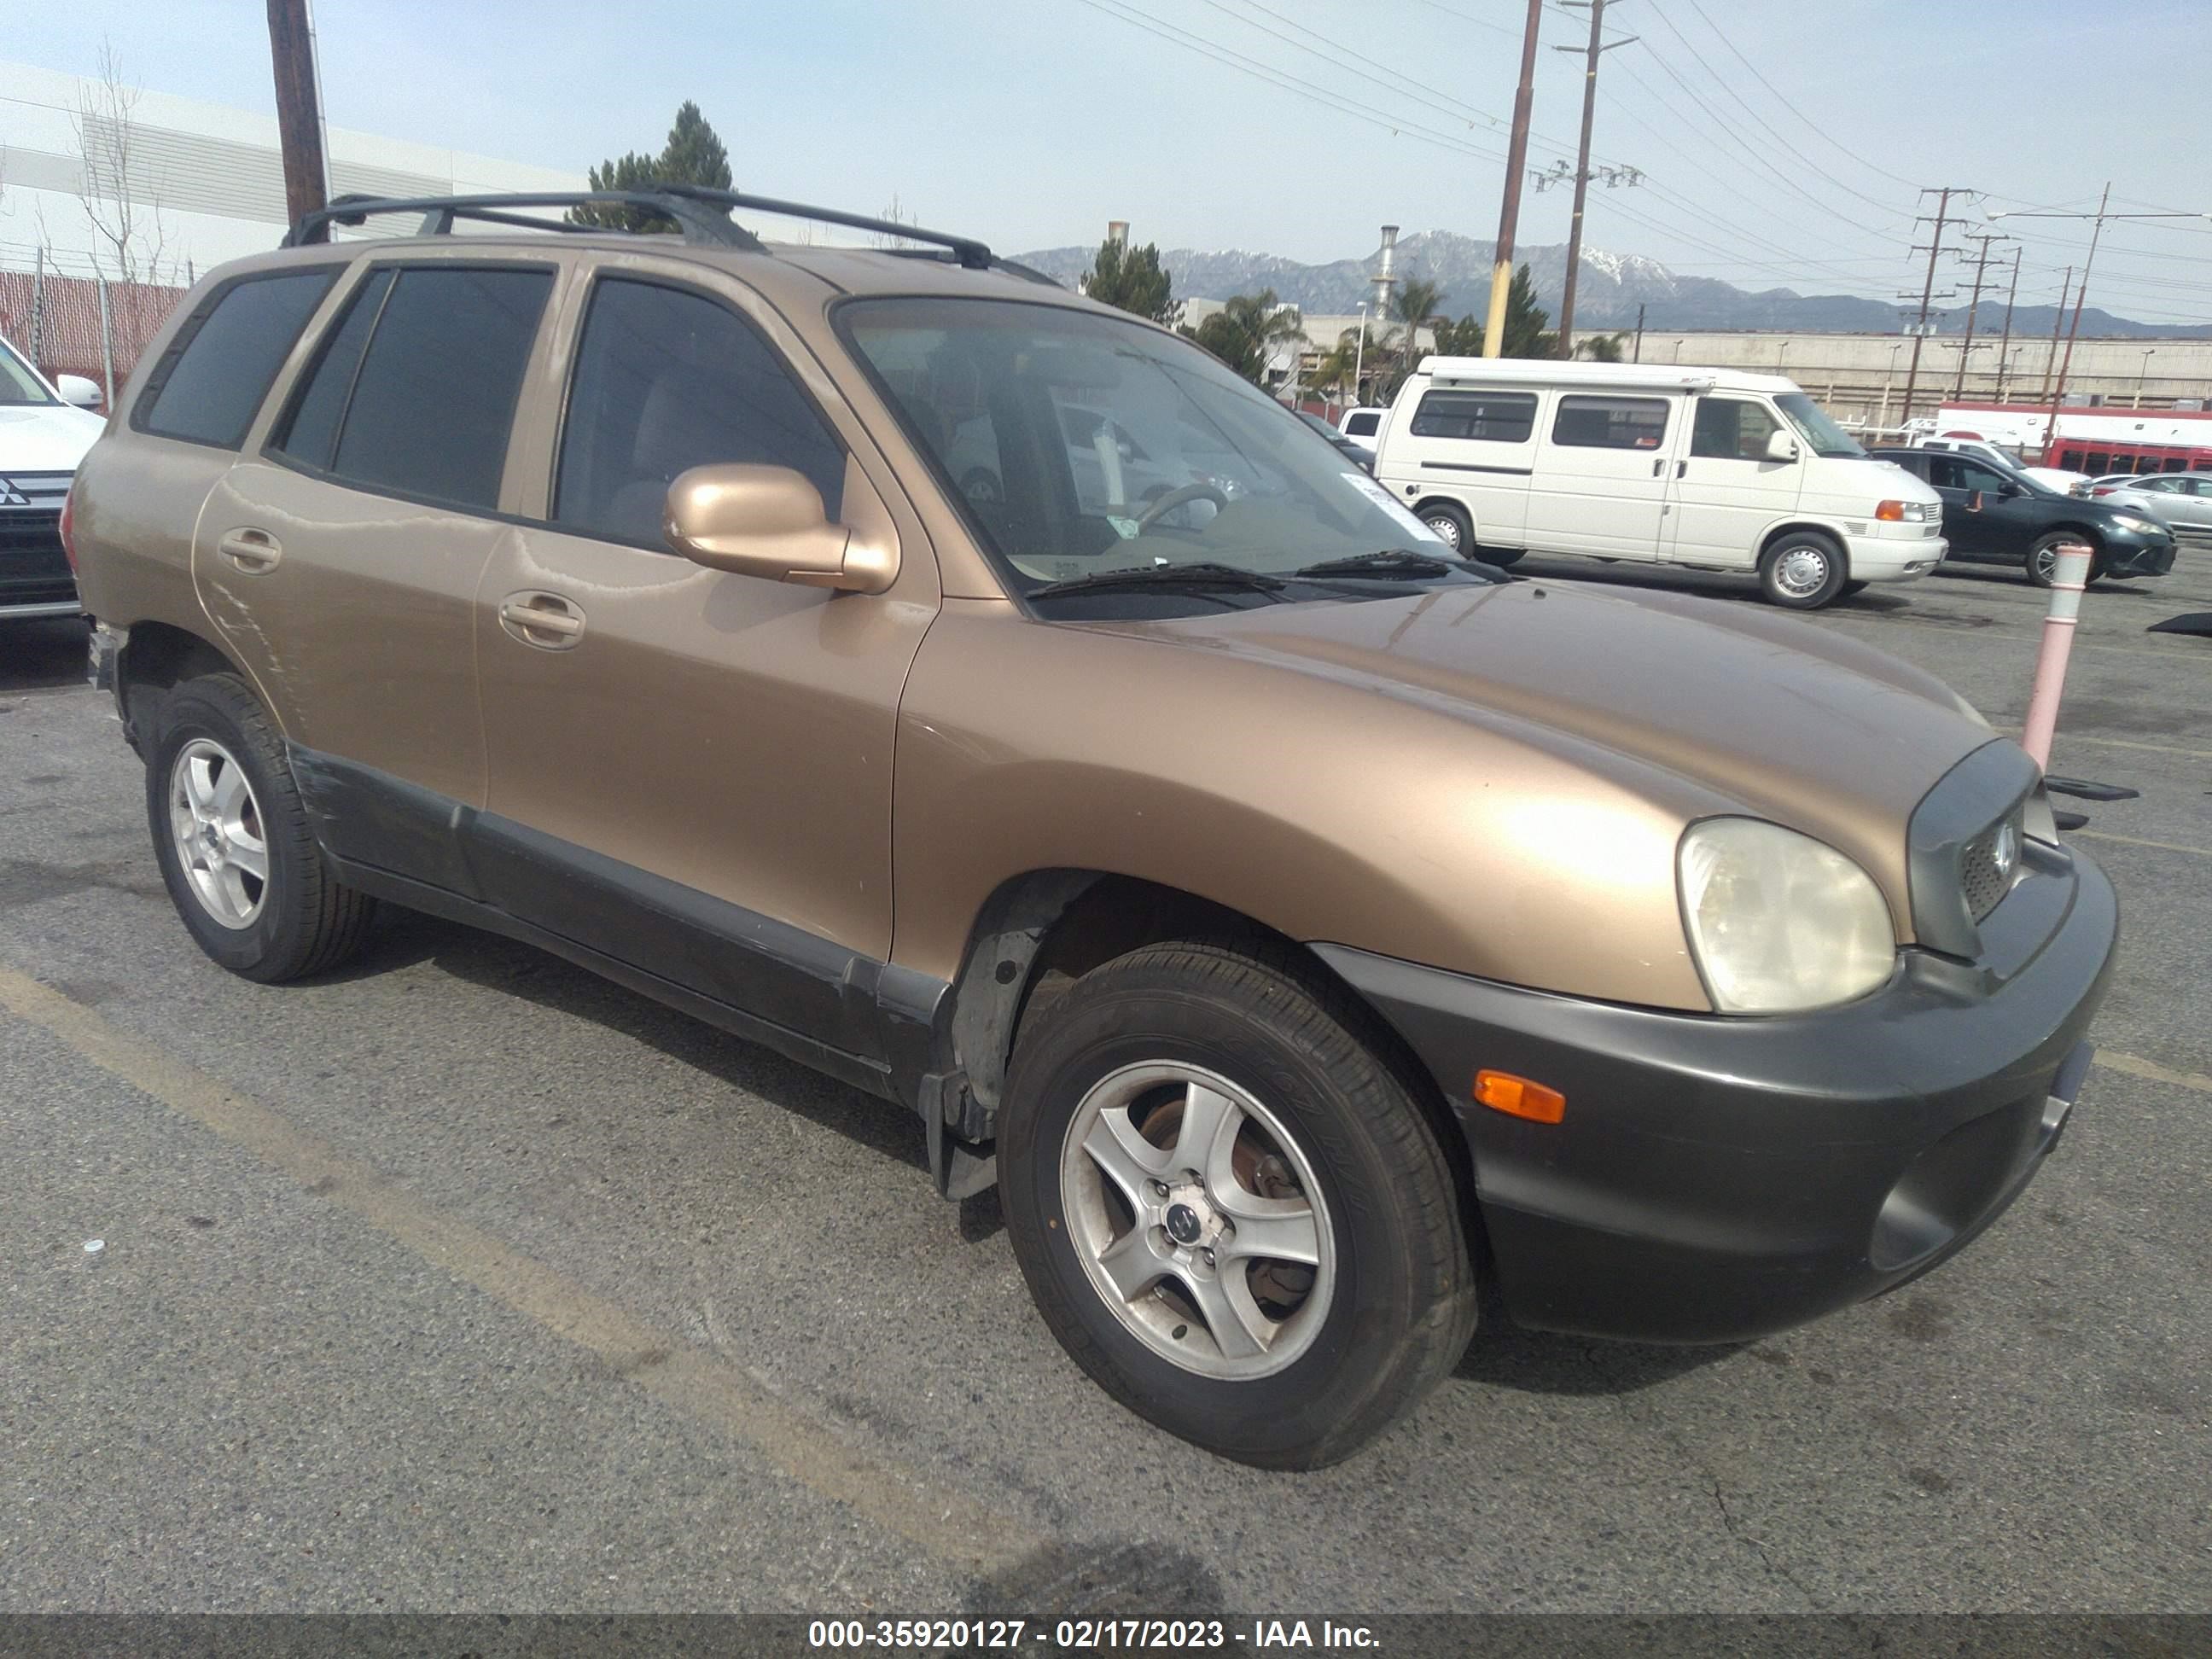
[[[1130,1411],[1263,1469],[1349,1455],[1475,1329],[1442,1144],[1363,1015],[1294,951],[1155,945],[1031,1013],[1006,1079],[1000,1192],[1044,1323]],[[1228,1126],[1208,1141],[1225,1166],[1181,1155],[1192,1110]],[[1285,1208],[1259,1214],[1254,1183]],[[1128,1245],[1128,1294],[1108,1287],[1106,1243]]]

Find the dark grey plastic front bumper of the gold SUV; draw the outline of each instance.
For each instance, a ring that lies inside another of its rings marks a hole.
[[[1734,1343],[1876,1296],[1964,1248],[2057,1144],[2119,933],[2088,858],[2031,874],[1966,964],[1905,951],[1843,1009],[1635,1009],[1316,947],[1436,1075],[1522,1325]],[[1566,1095],[1473,1104],[1478,1068]]]

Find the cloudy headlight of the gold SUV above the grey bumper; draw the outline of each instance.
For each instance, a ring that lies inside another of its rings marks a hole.
[[[1677,854],[1690,953],[1721,1013],[1798,1013],[1889,978],[1898,940],[1865,869],[1761,818],[1705,818]]]

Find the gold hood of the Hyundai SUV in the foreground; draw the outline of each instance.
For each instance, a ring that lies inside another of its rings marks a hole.
[[[1856,858],[1900,922],[1907,818],[1993,739],[1880,650],[1672,593],[1544,577],[1121,626],[1449,712],[1686,816],[1785,823]]]

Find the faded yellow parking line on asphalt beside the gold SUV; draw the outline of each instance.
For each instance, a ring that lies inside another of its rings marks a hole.
[[[376,1168],[283,1115],[173,1060],[80,1002],[0,967],[0,1006],[319,1197],[349,1210],[418,1259],[608,1363],[633,1387],[752,1447],[774,1469],[949,1562],[1004,1571],[1035,1553],[1035,1531],[841,1440],[726,1360],[690,1347],[509,1250],[491,1234],[403,1192]]]

